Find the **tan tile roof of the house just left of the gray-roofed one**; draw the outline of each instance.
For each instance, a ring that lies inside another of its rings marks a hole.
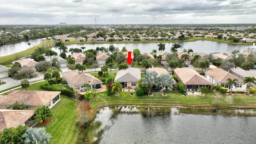
[[[100,79],[90,75],[90,74],[78,74],[76,71],[66,71],[61,73],[62,77],[65,78],[68,83],[78,86],[83,84],[101,84],[103,82],[100,81]]]

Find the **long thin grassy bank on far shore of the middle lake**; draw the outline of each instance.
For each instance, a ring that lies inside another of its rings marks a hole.
[[[201,37],[194,37],[190,39],[185,39],[183,41],[119,41],[119,42],[109,42],[109,41],[104,41],[104,42],[63,42],[65,44],[129,44],[129,43],[181,43],[181,42],[194,42],[194,41],[199,41],[199,40],[204,40],[204,41],[214,41],[214,42],[221,42],[221,43],[228,43],[228,44],[234,44],[234,45],[252,45],[252,43],[234,43],[232,41],[225,41],[223,39],[213,39],[213,38],[201,38]]]

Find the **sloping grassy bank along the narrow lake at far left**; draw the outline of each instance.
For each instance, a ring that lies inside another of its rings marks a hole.
[[[51,40],[51,41],[44,40],[43,42],[39,43],[38,45],[33,46],[25,51],[21,51],[21,52],[10,54],[10,55],[5,55],[3,57],[0,57],[0,65],[9,65],[12,61],[15,61],[22,57],[26,57],[26,56],[30,55],[38,47],[45,47],[46,49],[48,49],[51,46],[53,46],[53,44],[54,44],[53,40]]]

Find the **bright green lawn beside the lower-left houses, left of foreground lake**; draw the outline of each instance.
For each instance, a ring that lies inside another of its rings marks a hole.
[[[53,143],[76,143],[78,138],[76,103],[65,95],[60,95],[60,99],[52,108],[52,121],[45,126],[46,131],[51,133]]]

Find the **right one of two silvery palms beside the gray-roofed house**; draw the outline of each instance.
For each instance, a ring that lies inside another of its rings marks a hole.
[[[162,87],[161,91],[171,91],[173,89],[173,78],[169,74],[161,74],[158,78],[159,86]]]

